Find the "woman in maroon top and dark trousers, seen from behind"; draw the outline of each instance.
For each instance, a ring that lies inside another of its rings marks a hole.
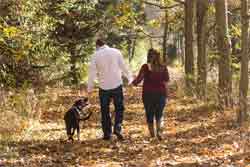
[[[146,112],[148,130],[151,137],[154,137],[155,119],[157,138],[162,140],[162,115],[166,105],[167,82],[169,81],[169,74],[166,65],[161,63],[160,53],[154,49],[149,49],[147,64],[142,65],[138,76],[135,78],[132,84],[136,86],[142,80],[144,81],[142,99]]]

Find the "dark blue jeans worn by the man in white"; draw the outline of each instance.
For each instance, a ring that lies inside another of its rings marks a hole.
[[[112,120],[110,117],[110,102],[113,99],[115,106],[115,125],[114,133],[121,133],[121,125],[123,121],[123,90],[122,86],[119,86],[111,90],[99,89],[99,97],[101,103],[101,113],[102,113],[102,130],[104,137],[110,137],[112,133]]]

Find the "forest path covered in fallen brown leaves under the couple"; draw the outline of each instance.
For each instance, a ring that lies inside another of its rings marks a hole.
[[[76,94],[58,95],[42,122],[33,124],[22,141],[8,143],[11,155],[5,166],[13,167],[245,167],[250,164],[249,129],[235,128],[232,111],[216,112],[212,104],[186,97],[170,99],[165,112],[164,140],[150,139],[141,88],[125,90],[126,112],[120,142],[113,136],[103,141],[97,92],[94,112],[81,123],[81,141],[65,142],[63,114]],[[63,105],[63,106],[62,106]],[[1,166],[1,165],[0,165]]]

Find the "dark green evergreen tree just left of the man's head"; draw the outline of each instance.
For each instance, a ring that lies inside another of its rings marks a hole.
[[[68,78],[73,85],[81,81],[81,68],[86,61],[93,38],[103,26],[103,8],[85,1],[47,1],[44,9],[48,16],[56,20],[50,38],[69,55]],[[105,9],[105,8],[104,8]]]

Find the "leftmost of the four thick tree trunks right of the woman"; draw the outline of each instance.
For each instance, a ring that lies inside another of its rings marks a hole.
[[[194,86],[195,2],[195,0],[186,0],[185,2],[185,78],[188,95],[192,95]]]

